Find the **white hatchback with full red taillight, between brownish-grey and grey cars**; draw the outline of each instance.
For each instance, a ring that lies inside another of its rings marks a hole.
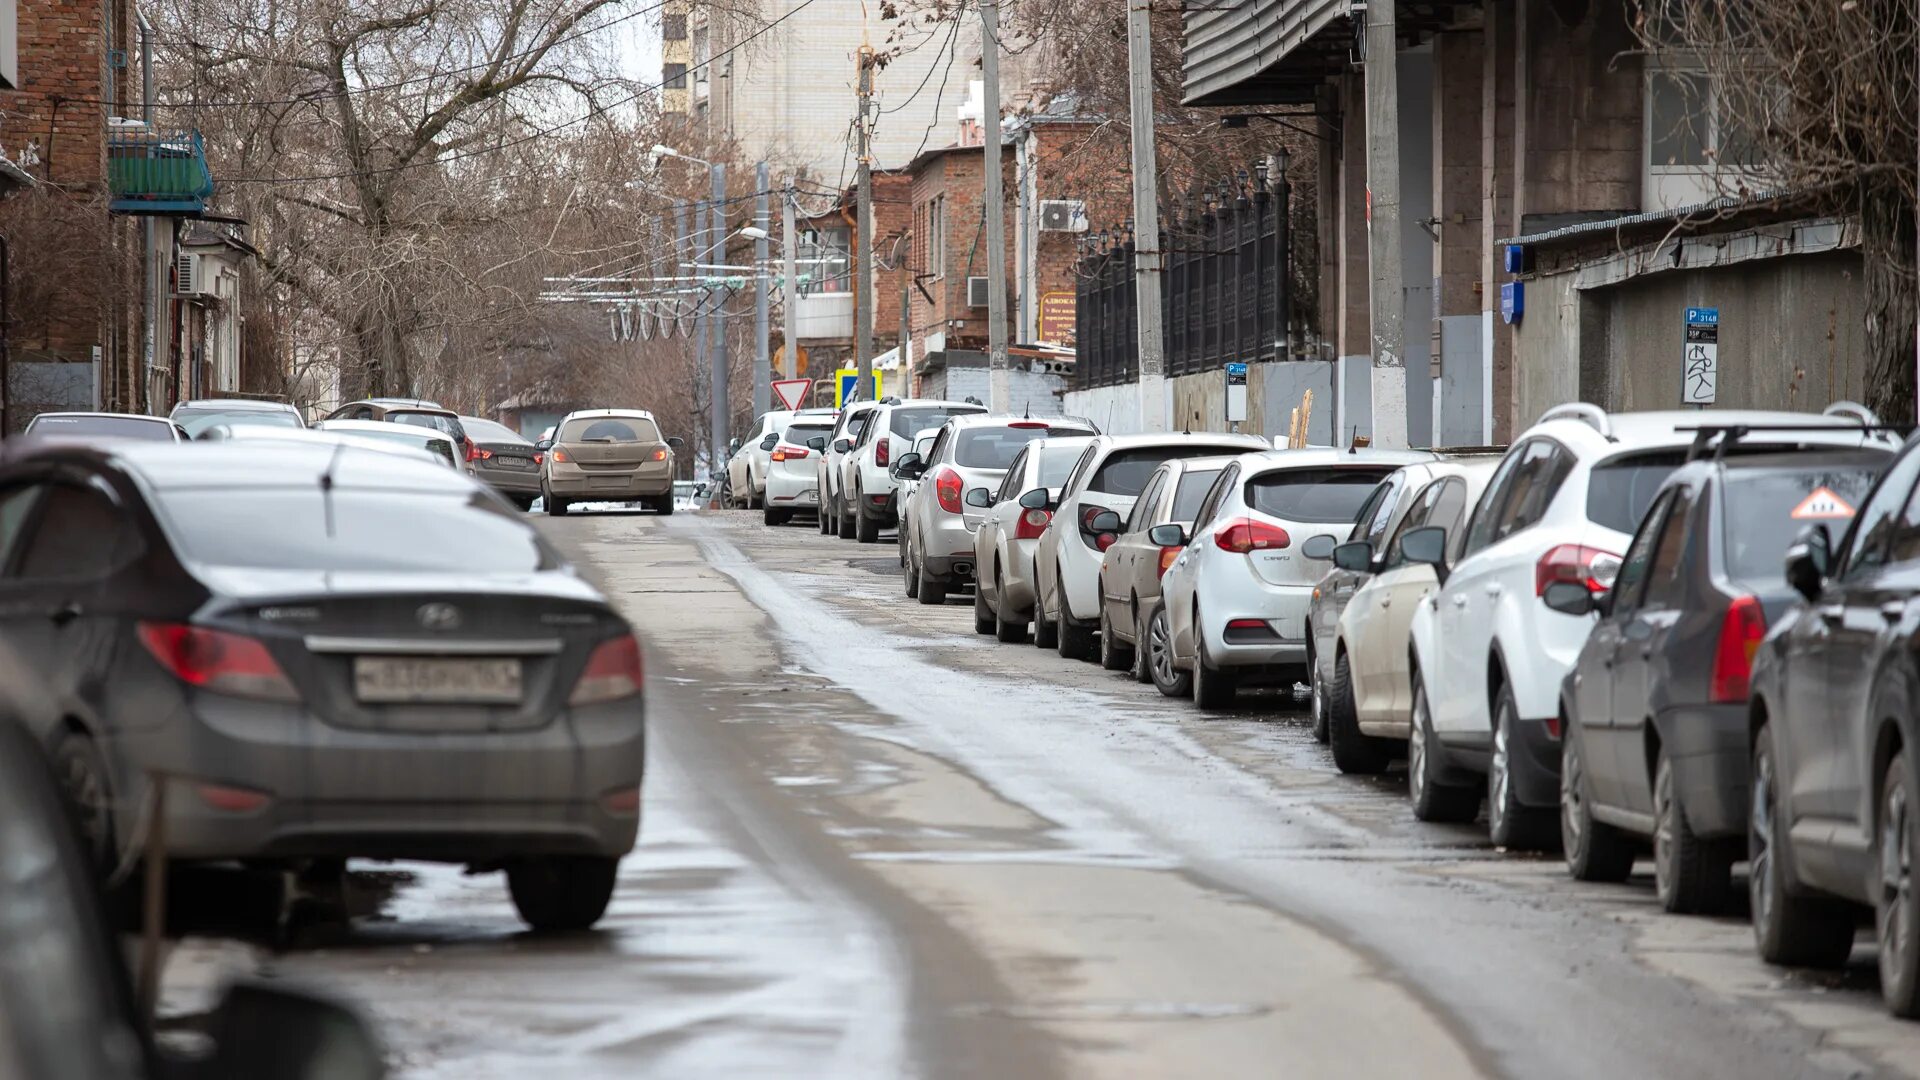
[[[1148,615],[1148,638],[1171,653],[1148,671],[1177,673],[1154,678],[1160,692],[1192,692],[1202,709],[1223,709],[1242,682],[1308,678],[1308,607],[1327,571],[1321,559],[1354,532],[1380,480],[1417,461],[1432,454],[1269,450],[1229,463]]]

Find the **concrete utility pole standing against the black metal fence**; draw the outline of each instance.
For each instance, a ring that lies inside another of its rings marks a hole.
[[[1392,0],[1386,0],[1392,2]],[[1154,4],[1127,0],[1127,98],[1133,123],[1133,288],[1140,357],[1140,430],[1167,430],[1167,348],[1160,327],[1165,254],[1154,181]]]

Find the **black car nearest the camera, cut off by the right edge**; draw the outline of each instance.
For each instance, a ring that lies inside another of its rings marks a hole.
[[[1920,1017],[1920,440],[1836,540],[1786,559],[1805,598],[1753,663],[1747,888],[1763,959],[1839,967],[1874,911],[1880,990]]]

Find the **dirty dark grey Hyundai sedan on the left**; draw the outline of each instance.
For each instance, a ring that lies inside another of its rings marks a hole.
[[[637,830],[639,646],[472,479],[344,446],[21,442],[0,521],[0,642],[58,703],[35,736],[100,867],[165,774],[177,861],[465,863],[505,869],[536,928],[603,913]]]

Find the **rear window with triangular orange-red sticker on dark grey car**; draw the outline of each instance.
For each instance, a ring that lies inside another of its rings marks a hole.
[[[1826,525],[1836,538],[1866,490],[1878,465],[1828,465],[1793,471],[1726,473],[1726,573],[1753,584],[1786,582],[1788,546],[1809,525]]]

